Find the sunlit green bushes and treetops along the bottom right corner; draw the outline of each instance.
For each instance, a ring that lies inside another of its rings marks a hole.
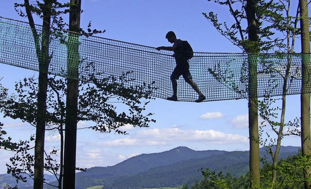
[[[303,189],[304,188],[304,168],[311,167],[311,158],[303,156],[301,151],[297,155],[281,159],[277,166],[277,182],[271,182],[271,164],[266,163],[260,170],[259,189]],[[249,189],[249,173],[240,177],[232,177],[230,173],[224,175],[222,172],[212,172],[208,168],[201,168],[201,173],[205,178],[201,182],[191,185],[191,189]]]

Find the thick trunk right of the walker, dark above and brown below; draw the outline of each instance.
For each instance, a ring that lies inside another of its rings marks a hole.
[[[256,0],[247,0],[245,12],[248,23],[248,38],[250,43],[258,42],[257,22],[255,17]],[[252,53],[258,53],[254,50]],[[249,124],[249,169],[251,173],[251,188],[259,188],[259,128],[258,128],[258,100],[257,100],[257,56],[249,54],[249,100],[248,100],[248,124]]]

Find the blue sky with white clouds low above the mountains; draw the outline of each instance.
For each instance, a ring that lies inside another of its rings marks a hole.
[[[14,2],[1,0],[0,16],[27,21],[14,10]],[[81,27],[106,30],[99,36],[145,46],[171,46],[165,39],[167,31],[188,40],[194,51],[241,52],[211,26],[202,12],[214,11],[221,19],[230,19],[225,7],[207,0],[82,0]],[[66,17],[66,16],[65,16]],[[36,19],[38,20],[38,19]],[[41,24],[41,21],[37,21]],[[298,40],[297,40],[298,41]],[[296,49],[296,51],[299,51]],[[0,64],[0,81],[14,93],[15,81],[37,73]],[[169,79],[169,78],[167,78]],[[194,78],[195,80],[195,78]],[[287,119],[300,117],[300,95],[288,96]],[[103,134],[93,130],[78,130],[77,166],[111,166],[142,153],[156,153],[177,146],[193,150],[248,150],[247,100],[217,102],[172,102],[156,98],[147,107],[156,123],[149,128],[126,126],[128,135]],[[35,128],[19,120],[3,119],[3,129],[15,141],[26,140]],[[81,122],[79,127],[92,126]],[[58,147],[59,138],[46,133],[46,147]],[[282,145],[300,145],[299,137],[287,137]],[[12,154],[0,151],[0,173],[6,173],[5,163]]]

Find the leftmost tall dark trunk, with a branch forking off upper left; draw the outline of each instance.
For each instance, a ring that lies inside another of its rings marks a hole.
[[[25,0],[25,3],[28,0]],[[28,2],[29,4],[29,2]],[[49,45],[51,23],[51,0],[44,0],[41,52],[39,55],[39,80],[37,94],[37,120],[35,132],[35,165],[34,165],[34,189],[43,189],[44,173],[44,137],[46,125],[46,98],[48,88],[49,69]],[[36,43],[37,44],[37,43]]]

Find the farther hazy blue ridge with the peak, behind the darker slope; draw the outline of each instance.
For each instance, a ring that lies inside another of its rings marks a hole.
[[[166,166],[180,161],[190,160],[193,158],[209,157],[212,155],[222,155],[225,151],[206,150],[195,151],[188,147],[179,146],[169,151],[141,154],[122,161],[114,166],[109,167],[93,167],[87,169],[86,172],[76,174],[76,186],[86,188],[94,186],[94,182],[99,185],[99,180],[104,180],[105,184],[111,183],[114,179],[121,176],[135,175],[148,171],[155,167]]]

